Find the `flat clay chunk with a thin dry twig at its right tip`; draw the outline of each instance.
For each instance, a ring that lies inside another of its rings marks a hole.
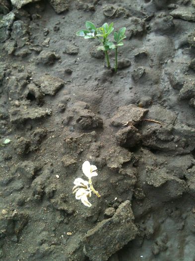
[[[147,112],[147,109],[139,108],[134,104],[120,107],[118,112],[112,117],[111,125],[122,126],[128,123],[134,124],[139,122]]]

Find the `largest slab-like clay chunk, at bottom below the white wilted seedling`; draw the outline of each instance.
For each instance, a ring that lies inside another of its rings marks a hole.
[[[87,232],[84,238],[84,252],[91,261],[107,261],[137,234],[133,223],[130,201],[126,200],[112,218],[101,221]]]

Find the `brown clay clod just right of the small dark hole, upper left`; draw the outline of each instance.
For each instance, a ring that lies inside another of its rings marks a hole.
[[[39,82],[41,85],[41,91],[49,95],[55,95],[65,83],[62,79],[50,75],[41,77]]]

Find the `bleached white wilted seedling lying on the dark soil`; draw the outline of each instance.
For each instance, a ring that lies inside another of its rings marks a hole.
[[[85,176],[88,177],[88,181],[77,177],[73,182],[75,186],[72,188],[72,193],[75,194],[75,198],[80,199],[85,206],[91,207],[91,203],[88,201],[88,197],[91,197],[91,193],[93,192],[96,196],[100,197],[98,191],[94,189],[91,180],[93,176],[97,176],[97,172],[95,172],[97,171],[97,167],[85,161],[82,165],[82,171]]]

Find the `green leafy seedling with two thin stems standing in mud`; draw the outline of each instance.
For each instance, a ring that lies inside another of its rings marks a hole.
[[[114,23],[111,23],[110,25],[108,25],[108,23],[104,23],[101,27],[96,28],[92,22],[86,21],[85,26],[87,30],[80,30],[76,33],[76,35],[82,36],[84,39],[97,38],[102,43],[102,45],[98,47],[98,50],[104,51],[108,68],[111,68],[108,52],[115,49],[115,72],[117,72],[118,47],[123,45],[122,41],[126,38],[126,27],[121,28],[119,32],[114,32],[114,41],[116,43],[113,43],[108,39],[108,36],[114,30],[113,25]]]

